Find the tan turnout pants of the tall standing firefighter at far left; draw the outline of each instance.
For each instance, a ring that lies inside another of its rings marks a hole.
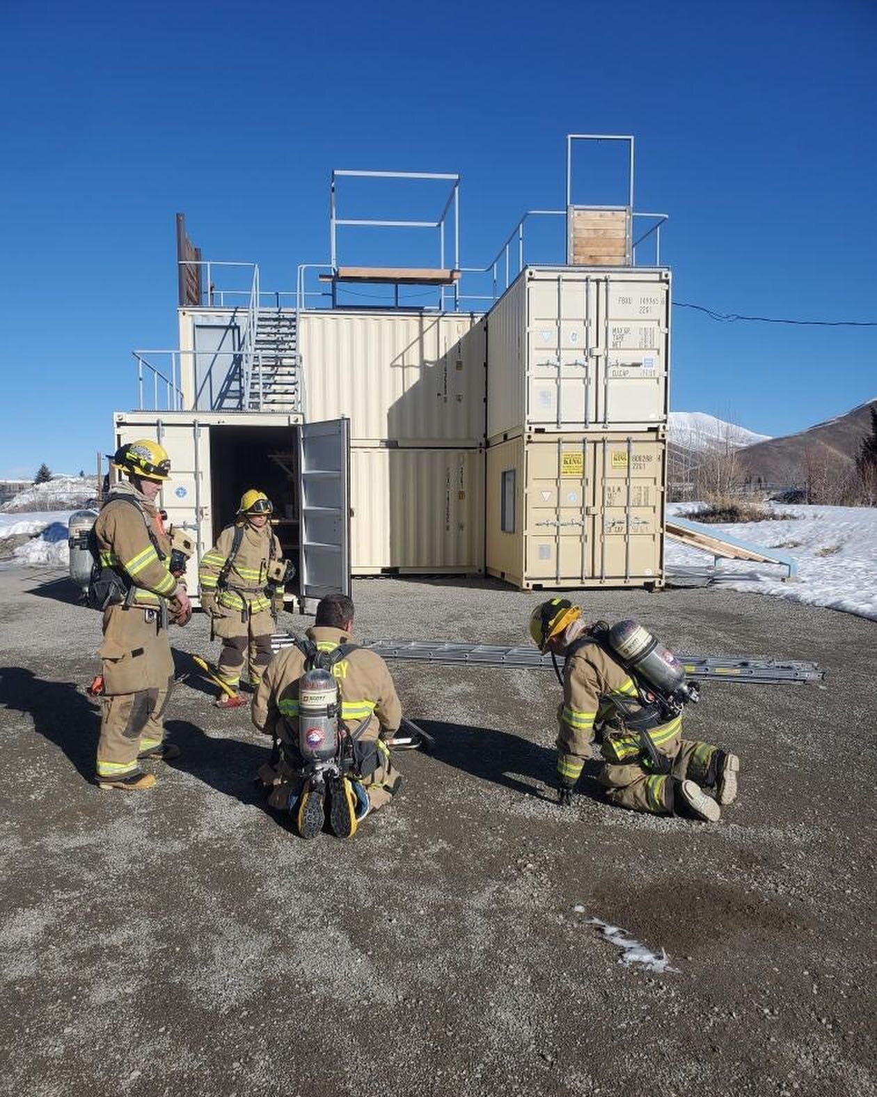
[[[103,615],[104,695],[98,777],[136,773],[137,755],[164,738],[164,710],[173,687],[167,630],[156,610],[111,606]]]

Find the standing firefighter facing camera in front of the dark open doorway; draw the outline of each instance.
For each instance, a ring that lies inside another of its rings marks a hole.
[[[223,641],[217,672],[235,691],[219,694],[219,709],[247,703],[237,692],[244,657],[249,656],[253,687],[271,660],[271,634],[283,609],[287,568],[271,528],[273,509],[264,491],[244,491],[235,524],[223,530],[201,561],[201,604],[210,614],[210,638]]]

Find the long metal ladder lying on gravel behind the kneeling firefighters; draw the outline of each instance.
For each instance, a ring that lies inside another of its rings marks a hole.
[[[295,635],[277,632],[271,637],[275,652],[295,643]],[[523,667],[533,670],[551,670],[550,654],[540,655],[535,647],[502,647],[496,644],[444,644],[408,640],[365,640],[360,645],[376,652],[384,659],[409,663],[433,663],[442,666],[470,665],[477,667]],[[685,667],[688,678],[695,680],[725,680],[771,686],[788,682],[804,686],[819,682],[824,671],[816,663],[795,659],[773,659],[760,656],[734,655],[681,655],[676,658]]]

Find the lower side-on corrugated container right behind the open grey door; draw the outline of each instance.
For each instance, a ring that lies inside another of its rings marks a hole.
[[[350,451],[354,575],[483,572],[485,451]]]

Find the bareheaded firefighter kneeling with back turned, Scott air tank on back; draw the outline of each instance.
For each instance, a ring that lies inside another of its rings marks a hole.
[[[351,837],[388,803],[401,778],[384,742],[402,719],[386,663],[351,642],[353,602],[329,595],[312,629],[269,664],[252,703],[255,726],[274,737],[259,776],[273,807],[289,811],[303,838],[326,822]]]

